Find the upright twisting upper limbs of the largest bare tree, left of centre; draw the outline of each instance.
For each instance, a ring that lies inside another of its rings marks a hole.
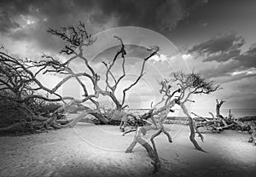
[[[144,67],[149,58],[157,54],[159,51],[159,48],[157,46],[151,47],[148,49],[148,56],[143,59],[143,64],[141,67],[141,71],[137,77],[137,79],[131,83],[127,88],[124,88],[122,93],[122,100],[119,100],[116,96],[116,89],[119,87],[120,82],[125,78],[125,43],[123,43],[122,39],[120,37],[114,36],[119,43],[120,48],[118,49],[117,53],[114,55],[113,60],[110,63],[106,63],[105,61],[102,61],[103,65],[106,66],[107,71],[105,72],[105,80],[106,83],[105,88],[101,88],[98,83],[101,80],[101,76],[99,76],[96,71],[93,69],[92,66],[90,66],[89,59],[84,57],[84,47],[90,45],[91,43],[95,42],[95,38],[91,37],[87,34],[87,31],[85,30],[84,24],[79,23],[79,26],[77,28],[71,26],[68,28],[62,28],[61,31],[49,29],[49,32],[57,37],[61,37],[62,40],[67,42],[67,45],[64,49],[61,49],[61,53],[70,55],[70,59],[67,60],[64,64],[59,64],[57,68],[63,68],[62,70],[67,71],[68,75],[73,77],[74,75],[79,75],[81,73],[74,73],[72,71],[72,68],[68,67],[69,63],[73,60],[82,60],[84,61],[85,67],[88,69],[88,72],[83,72],[83,77],[89,78],[90,82],[93,85],[94,93],[88,94],[87,88],[85,87],[84,83],[79,80],[79,76],[75,77],[77,81],[80,83],[80,85],[84,89],[84,97],[86,100],[90,100],[93,104],[96,105],[97,115],[101,115],[100,112],[100,104],[97,101],[98,97],[100,95],[108,96],[115,105],[115,110],[121,111],[123,110],[127,105],[125,105],[125,98],[126,93],[129,91],[132,87],[134,87],[139,80],[143,77],[144,73]],[[84,43],[85,41],[85,43]],[[75,50],[76,49],[76,50]],[[114,77],[113,75],[113,66],[115,65],[117,60],[122,60],[121,68],[122,68],[122,75],[119,77]],[[45,68],[44,68],[45,69]],[[55,69],[55,68],[54,68]],[[47,70],[52,71],[52,70]],[[113,84],[111,84],[111,80],[113,81]],[[84,100],[82,101],[84,102]],[[94,114],[96,116],[96,114]]]

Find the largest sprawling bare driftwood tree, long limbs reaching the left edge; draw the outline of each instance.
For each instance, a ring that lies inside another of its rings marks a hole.
[[[108,123],[108,118],[102,115],[100,110],[100,103],[98,98],[100,95],[108,96],[115,105],[115,109],[120,111],[125,108],[125,96],[127,91],[134,87],[139,80],[143,77],[144,67],[147,60],[157,54],[159,48],[151,47],[148,49],[148,56],[143,59],[143,64],[141,71],[138,74],[137,79],[131,83],[127,88],[123,90],[122,100],[119,100],[116,96],[116,88],[119,87],[119,84],[122,79],[125,78],[125,44],[123,43],[120,37],[115,37],[119,43],[120,48],[117,53],[114,55],[113,60],[107,64],[103,62],[103,65],[106,66],[107,71],[105,73],[105,83],[106,87],[101,88],[99,81],[102,79],[100,75],[96,73],[93,66],[90,65],[90,59],[85,57],[84,49],[87,46],[92,45],[96,41],[96,37],[92,37],[87,33],[86,28],[83,23],[79,22],[78,26],[68,26],[63,27],[61,30],[49,29],[50,34],[55,37],[60,37],[66,44],[61,49],[61,54],[64,54],[67,58],[65,61],[55,59],[53,56],[43,54],[42,60],[19,60],[9,54],[5,53],[3,50],[0,53],[0,66],[1,66],[1,86],[0,89],[3,94],[1,97],[7,100],[15,101],[15,103],[21,104],[26,101],[31,101],[32,99],[46,100],[46,101],[62,101],[64,106],[61,106],[55,113],[66,110],[68,107],[75,104],[80,104],[84,102],[91,102],[94,107],[91,109],[85,110],[78,117],[75,117],[71,122],[61,125],[55,121],[54,117],[51,119],[46,117],[40,117],[44,121],[51,120],[54,122],[55,127],[73,127],[78,123],[83,117],[87,114],[92,114],[97,117],[101,123]],[[100,40],[100,39],[99,39]],[[84,63],[84,71],[76,72],[71,67],[71,64],[75,60],[80,60]],[[116,63],[116,60],[122,60],[122,71],[123,74],[120,77],[113,76],[113,66]],[[54,73],[62,76],[62,80],[55,84],[54,88],[47,88],[38,80],[38,75],[44,75],[47,73]],[[75,78],[79,85],[83,88],[84,99],[76,100],[72,96],[63,97],[60,94],[56,94],[57,90],[61,88],[61,85],[66,83],[69,79]],[[93,93],[89,93],[86,84],[83,83],[83,78],[89,79],[90,83],[93,85]],[[113,79],[114,84],[111,85],[110,78]],[[47,95],[51,95],[52,98],[48,96],[43,96],[37,94],[39,91],[44,91]],[[8,94],[6,94],[8,93]],[[67,103],[66,100],[69,100]],[[48,123],[48,122],[47,122]]]

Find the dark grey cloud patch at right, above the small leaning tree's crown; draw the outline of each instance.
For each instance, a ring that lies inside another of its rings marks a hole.
[[[240,69],[256,67],[256,44],[253,44],[246,52],[241,54],[241,46],[244,43],[242,37],[230,34],[195,45],[188,52],[202,58],[204,62],[233,60],[238,63],[237,67],[239,66]]]

